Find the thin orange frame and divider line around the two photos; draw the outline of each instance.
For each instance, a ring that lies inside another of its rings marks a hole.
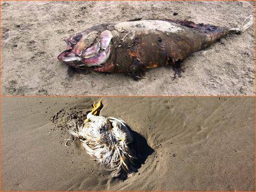
[[[93,0],[0,0],[0,26],[1,26],[1,1],[93,1]],[[106,0],[94,0],[94,1],[106,1]],[[107,0],[107,1],[122,1],[122,0]],[[125,1],[125,0],[124,0]],[[127,0],[127,1],[132,1],[132,0]],[[134,0],[134,1],[145,1],[145,0]],[[240,0],[151,0],[151,1],[240,1]],[[254,1],[256,3],[256,0],[243,0],[243,1]],[[255,7],[255,12],[256,12],[256,5],[254,5]],[[256,31],[256,25],[255,25],[255,31]],[[255,34],[256,35],[256,34]],[[0,44],[1,44],[1,36],[2,36],[2,33],[1,33],[1,28],[0,28]],[[255,43],[255,52],[256,52],[256,42]],[[2,96],[2,87],[1,87],[1,79],[2,79],[2,70],[1,70],[1,47],[0,47],[0,170],[1,169],[1,155],[2,155],[2,152],[1,152],[1,128],[2,128],[2,124],[1,124],[1,109],[2,109],[2,97],[254,97],[254,100],[255,100],[255,123],[256,123],[256,95],[255,96],[187,96],[187,95],[184,95],[184,96],[123,96],[123,95],[118,95],[118,96],[100,96],[100,95],[94,95],[94,96],[86,96],[86,95],[77,95],[77,96],[67,96],[67,95],[60,95],[60,96],[31,96],[31,95],[28,95],[28,96],[11,96],[11,95],[6,95],[6,96]],[[254,55],[256,57],[256,55]],[[255,69],[256,69],[256,61],[255,61]],[[256,76],[256,73],[255,73],[255,76]],[[255,91],[256,91],[256,79],[255,79]],[[255,125],[255,152],[256,152],[256,125]],[[255,157],[255,154],[254,154],[254,165],[255,165],[255,186],[256,186],[256,157]],[[0,192],[2,191],[1,190],[1,187],[2,187],[2,171],[0,173]],[[58,192],[58,191],[56,191]],[[161,191],[159,191],[161,192]]]

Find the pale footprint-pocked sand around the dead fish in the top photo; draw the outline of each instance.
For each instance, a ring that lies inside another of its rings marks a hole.
[[[228,27],[255,15],[254,1],[1,2],[3,95],[255,95],[255,25],[229,35],[182,64],[124,74],[74,70],[57,60],[64,37],[99,23],[138,17],[192,20]],[[178,15],[174,16],[173,13]]]

